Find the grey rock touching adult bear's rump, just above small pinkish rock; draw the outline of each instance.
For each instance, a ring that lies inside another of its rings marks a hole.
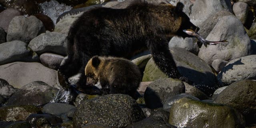
[[[51,52],[66,55],[66,36],[59,32],[46,32],[30,41],[28,46],[37,54]]]

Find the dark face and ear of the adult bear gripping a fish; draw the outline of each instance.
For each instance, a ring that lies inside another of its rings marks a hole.
[[[194,31],[198,31],[199,28],[197,28],[194,24],[190,22],[190,18],[182,11],[184,8],[184,4],[181,2],[178,2],[176,7],[173,9],[174,15],[176,18],[178,18],[178,22],[180,23],[180,26],[178,28],[178,31],[176,32],[177,36],[181,36],[182,38],[185,37],[192,37],[183,32],[185,29],[190,29]]]

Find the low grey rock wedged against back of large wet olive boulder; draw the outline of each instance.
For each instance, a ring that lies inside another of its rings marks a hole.
[[[199,100],[198,98],[190,94],[181,93],[181,94],[168,97],[167,100],[164,102],[163,109],[167,112],[170,112],[170,108],[172,108],[172,105],[178,100],[180,100],[181,98],[190,98],[194,100]]]

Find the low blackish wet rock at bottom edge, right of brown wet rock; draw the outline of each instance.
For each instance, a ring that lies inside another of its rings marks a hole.
[[[26,119],[32,128],[60,128],[61,118],[50,114],[31,114]]]

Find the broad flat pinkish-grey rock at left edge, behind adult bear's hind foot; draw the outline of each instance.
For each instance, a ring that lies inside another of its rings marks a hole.
[[[7,80],[14,88],[21,88],[38,80],[57,87],[57,71],[46,68],[40,63],[13,62],[1,65],[0,71],[0,78]]]

